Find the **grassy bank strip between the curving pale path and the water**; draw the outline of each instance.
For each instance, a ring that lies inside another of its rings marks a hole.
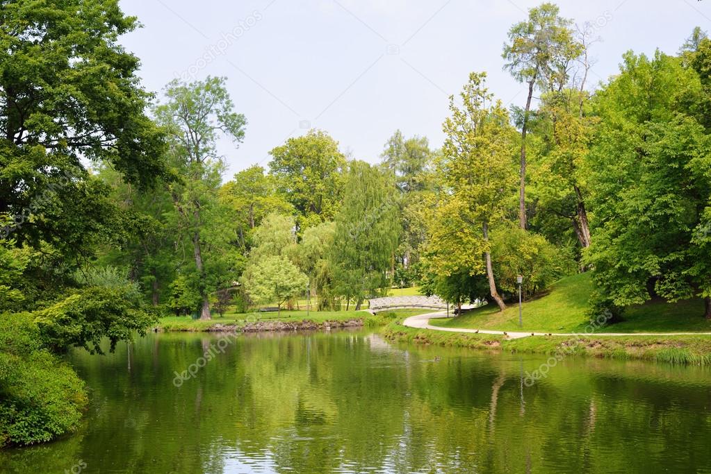
[[[384,330],[390,341],[474,348],[487,351],[540,353],[565,357],[587,355],[597,358],[641,359],[656,362],[710,365],[709,336],[589,336],[570,338],[535,336],[507,339],[505,336],[466,334],[432,329],[414,329],[389,324]]]

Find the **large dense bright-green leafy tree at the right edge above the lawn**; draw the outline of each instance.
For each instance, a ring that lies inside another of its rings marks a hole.
[[[628,53],[596,94],[587,261],[612,307],[698,295],[711,317],[710,140],[699,75],[678,57]]]

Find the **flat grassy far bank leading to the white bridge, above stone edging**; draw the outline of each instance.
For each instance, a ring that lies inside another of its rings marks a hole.
[[[293,326],[308,326],[309,329],[313,329],[312,326],[324,326],[324,324],[338,325],[345,324],[351,321],[358,321],[358,324],[362,326],[382,326],[391,321],[397,319],[405,319],[408,316],[415,316],[417,314],[424,314],[429,312],[424,311],[408,311],[408,310],[397,310],[392,312],[385,312],[376,314],[372,316],[367,312],[363,311],[282,311],[281,314],[277,312],[269,313],[240,313],[240,314],[225,314],[224,317],[213,316],[213,319],[209,321],[201,321],[199,319],[191,319],[189,316],[166,316],[159,320],[156,328],[159,331],[214,331],[220,327],[228,328],[232,330],[240,331],[245,328],[245,326],[262,324],[262,326],[268,326],[268,323],[286,323]],[[310,324],[307,324],[310,323]]]

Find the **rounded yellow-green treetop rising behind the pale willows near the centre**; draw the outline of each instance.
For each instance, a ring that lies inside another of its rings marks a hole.
[[[341,203],[346,157],[338,142],[323,131],[289,138],[269,152],[269,173],[280,194],[290,202],[299,229],[331,221]]]

